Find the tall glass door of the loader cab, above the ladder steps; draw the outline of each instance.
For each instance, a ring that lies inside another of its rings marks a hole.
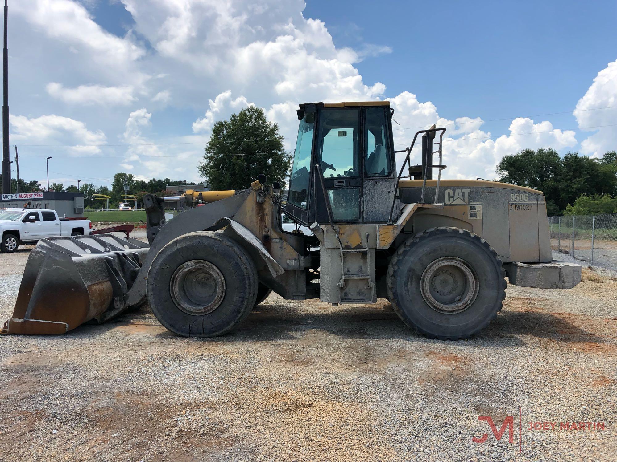
[[[360,108],[321,108],[317,120],[316,163],[336,222],[361,219],[360,113]],[[315,185],[315,198],[316,221],[328,222],[320,183]]]

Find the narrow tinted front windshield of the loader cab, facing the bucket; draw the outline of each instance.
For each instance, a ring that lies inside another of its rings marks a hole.
[[[307,196],[309,195],[310,156],[313,150],[314,127],[314,123],[308,123],[304,119],[300,121],[287,198],[289,203],[305,210],[307,209]]]

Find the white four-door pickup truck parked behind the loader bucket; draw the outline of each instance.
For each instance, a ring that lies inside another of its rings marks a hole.
[[[54,236],[79,236],[92,232],[85,218],[59,218],[54,210],[0,209],[0,251],[14,252],[22,244]]]

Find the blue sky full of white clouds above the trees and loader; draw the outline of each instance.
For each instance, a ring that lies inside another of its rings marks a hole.
[[[617,2],[582,5],[9,0],[10,144],[43,185],[47,156],[65,186],[198,182],[213,123],[249,104],[291,150],[298,103],[387,99],[398,149],[447,128],[447,178],[495,179],[524,148],[598,157],[617,148]]]

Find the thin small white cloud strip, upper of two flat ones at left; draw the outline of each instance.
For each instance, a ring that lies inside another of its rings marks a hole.
[[[127,105],[137,100],[130,85],[118,87],[80,85],[75,88],[65,88],[60,83],[52,82],[47,84],[46,90],[52,97],[70,104]]]

